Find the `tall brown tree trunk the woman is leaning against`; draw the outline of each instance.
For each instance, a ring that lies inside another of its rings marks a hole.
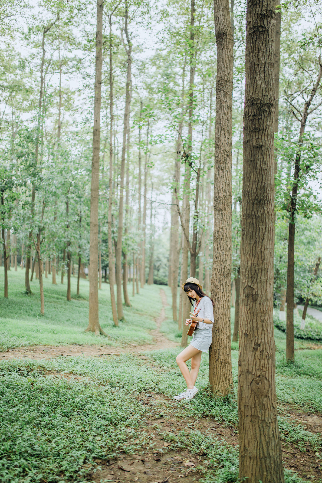
[[[213,193],[213,262],[211,298],[214,301],[209,384],[214,394],[233,394],[231,366],[231,199],[233,34],[229,0],[214,0],[217,43],[216,125]]]

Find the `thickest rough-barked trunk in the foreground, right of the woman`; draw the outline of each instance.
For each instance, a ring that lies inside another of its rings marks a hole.
[[[247,5],[238,361],[239,478],[282,483],[273,326],[275,0]]]

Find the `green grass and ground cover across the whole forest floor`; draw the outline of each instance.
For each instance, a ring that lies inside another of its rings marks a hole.
[[[2,268],[3,270],[3,268]],[[0,276],[3,275],[3,271]],[[9,299],[0,299],[0,345],[18,347],[30,344],[89,343],[124,345],[151,341],[150,329],[162,304],[160,288],[170,302],[167,286],[146,286],[124,307],[126,322],[113,327],[109,286],[99,291],[100,323],[108,337],[84,333],[88,319],[88,282],[81,281],[81,298],[66,301],[66,285],[53,286],[44,280],[45,316],[39,314],[38,282],[32,283],[34,295],[24,294],[24,272],[9,273]],[[75,291],[72,279],[72,293]],[[0,287],[1,289],[1,287]],[[178,341],[177,325],[167,320],[162,331]],[[234,313],[232,311],[232,325]],[[285,412],[285,404],[303,411],[322,412],[322,351],[309,350],[310,343],[295,340],[296,362],[285,360],[285,334],[275,328],[276,387],[280,411],[280,435],[300,451],[309,444],[322,449],[321,437],[295,424]],[[238,377],[238,343],[232,347],[235,391]],[[303,348],[307,348],[304,349]],[[301,350],[298,350],[301,349]],[[142,360],[135,355],[109,358],[55,357],[49,360],[13,359],[0,362],[0,481],[4,483],[84,482],[95,458],[107,459],[121,452],[148,451],[152,441],[142,432],[145,422],[160,415],[160,409],[140,401],[139,394],[181,392],[184,382],[175,363],[178,349],[154,350]],[[237,432],[236,398],[213,398],[208,390],[209,362],[202,355],[196,385],[199,393],[187,407],[180,406],[177,417],[196,413],[212,417]],[[170,411],[164,406],[164,411]],[[171,411],[173,411],[171,409]],[[238,483],[238,452],[215,437],[196,430],[165,435],[169,449],[200,447],[209,461],[200,480],[204,483]],[[143,446],[142,446],[143,445]],[[143,448],[143,449],[142,449]],[[145,449],[144,449],[145,448]],[[287,483],[301,480],[292,472]]]

